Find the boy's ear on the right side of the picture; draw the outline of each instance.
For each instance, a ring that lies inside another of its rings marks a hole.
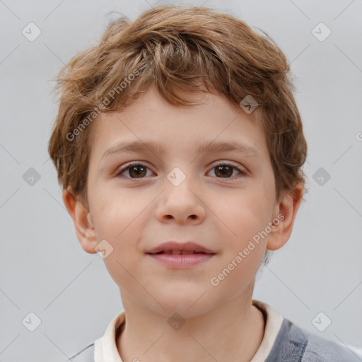
[[[280,202],[276,204],[274,220],[279,220],[279,224],[274,223],[274,228],[269,233],[267,249],[277,250],[290,238],[294,219],[303,199],[303,187],[304,182],[296,185],[294,189],[296,195],[285,191]]]

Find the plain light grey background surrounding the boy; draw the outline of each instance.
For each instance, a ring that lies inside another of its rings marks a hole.
[[[99,40],[108,11],[133,20],[160,4],[173,1],[0,1],[0,361],[66,361],[122,309],[103,259],[81,249],[62,202],[47,154],[57,112],[49,80]],[[310,191],[254,298],[310,332],[361,347],[362,1],[175,4],[204,4],[262,28],[291,63]],[[42,32],[33,42],[22,34],[30,22]],[[320,22],[332,30],[324,41],[312,33]],[[23,180],[29,168],[40,174],[34,185]],[[313,178],[320,172],[331,176],[324,185]],[[42,321],[34,332],[22,324],[30,312]],[[312,322],[320,312],[332,320],[324,332]]]

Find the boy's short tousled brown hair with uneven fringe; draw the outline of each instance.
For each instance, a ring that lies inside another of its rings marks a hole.
[[[174,105],[194,105],[177,89],[203,91],[204,85],[238,107],[247,95],[257,101],[276,197],[285,189],[293,193],[296,182],[305,181],[307,144],[286,57],[262,33],[192,6],[159,6],[135,21],[119,16],[110,22],[99,44],[76,54],[55,78],[59,112],[48,151],[59,185],[88,204],[91,121],[99,112],[119,111],[151,86]]]

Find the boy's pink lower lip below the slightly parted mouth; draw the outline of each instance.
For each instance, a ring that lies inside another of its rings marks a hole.
[[[207,262],[215,254],[147,254],[167,267],[187,268]]]

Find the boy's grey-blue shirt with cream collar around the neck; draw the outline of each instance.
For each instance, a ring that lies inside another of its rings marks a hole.
[[[276,313],[266,303],[252,300],[265,320],[264,337],[250,362],[356,362],[358,354],[348,346],[310,334]],[[116,315],[103,337],[71,357],[73,362],[122,362],[116,340],[125,320],[125,312]],[[361,356],[359,356],[361,357]]]

